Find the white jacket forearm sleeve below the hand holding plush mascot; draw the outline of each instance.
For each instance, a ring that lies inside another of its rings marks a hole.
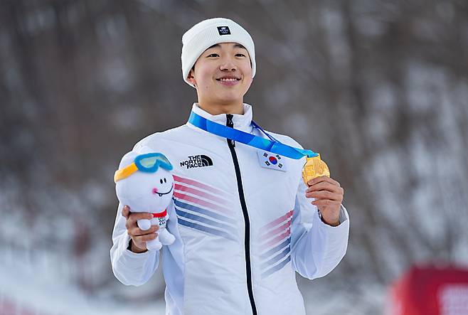
[[[123,205],[119,204],[112,232],[112,248],[110,249],[112,272],[123,284],[139,286],[146,283],[158,267],[159,250],[149,250],[140,254],[127,250],[130,237],[125,228],[122,208]]]

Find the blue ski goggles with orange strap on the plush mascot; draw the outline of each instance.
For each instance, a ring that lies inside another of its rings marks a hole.
[[[172,164],[169,160],[161,153],[147,153],[140,154],[137,156],[133,163],[129,166],[125,166],[122,169],[118,169],[114,174],[114,182],[120,181],[121,179],[127,178],[136,171],[143,171],[145,173],[155,173],[159,167],[166,169],[167,171],[172,170]]]

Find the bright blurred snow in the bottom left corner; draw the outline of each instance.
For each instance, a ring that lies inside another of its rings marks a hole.
[[[87,296],[52,270],[41,274],[23,270],[21,263],[0,263],[1,315],[123,315],[135,311],[135,304]],[[140,305],[138,314],[164,314],[164,301]]]

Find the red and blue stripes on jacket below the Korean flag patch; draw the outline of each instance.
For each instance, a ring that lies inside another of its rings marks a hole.
[[[258,248],[262,278],[282,269],[291,261],[291,224],[293,210],[260,228]]]

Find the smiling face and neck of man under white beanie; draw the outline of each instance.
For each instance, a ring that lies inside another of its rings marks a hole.
[[[248,51],[238,43],[211,46],[200,55],[187,80],[196,86],[200,105],[213,109],[242,106],[252,84]]]

